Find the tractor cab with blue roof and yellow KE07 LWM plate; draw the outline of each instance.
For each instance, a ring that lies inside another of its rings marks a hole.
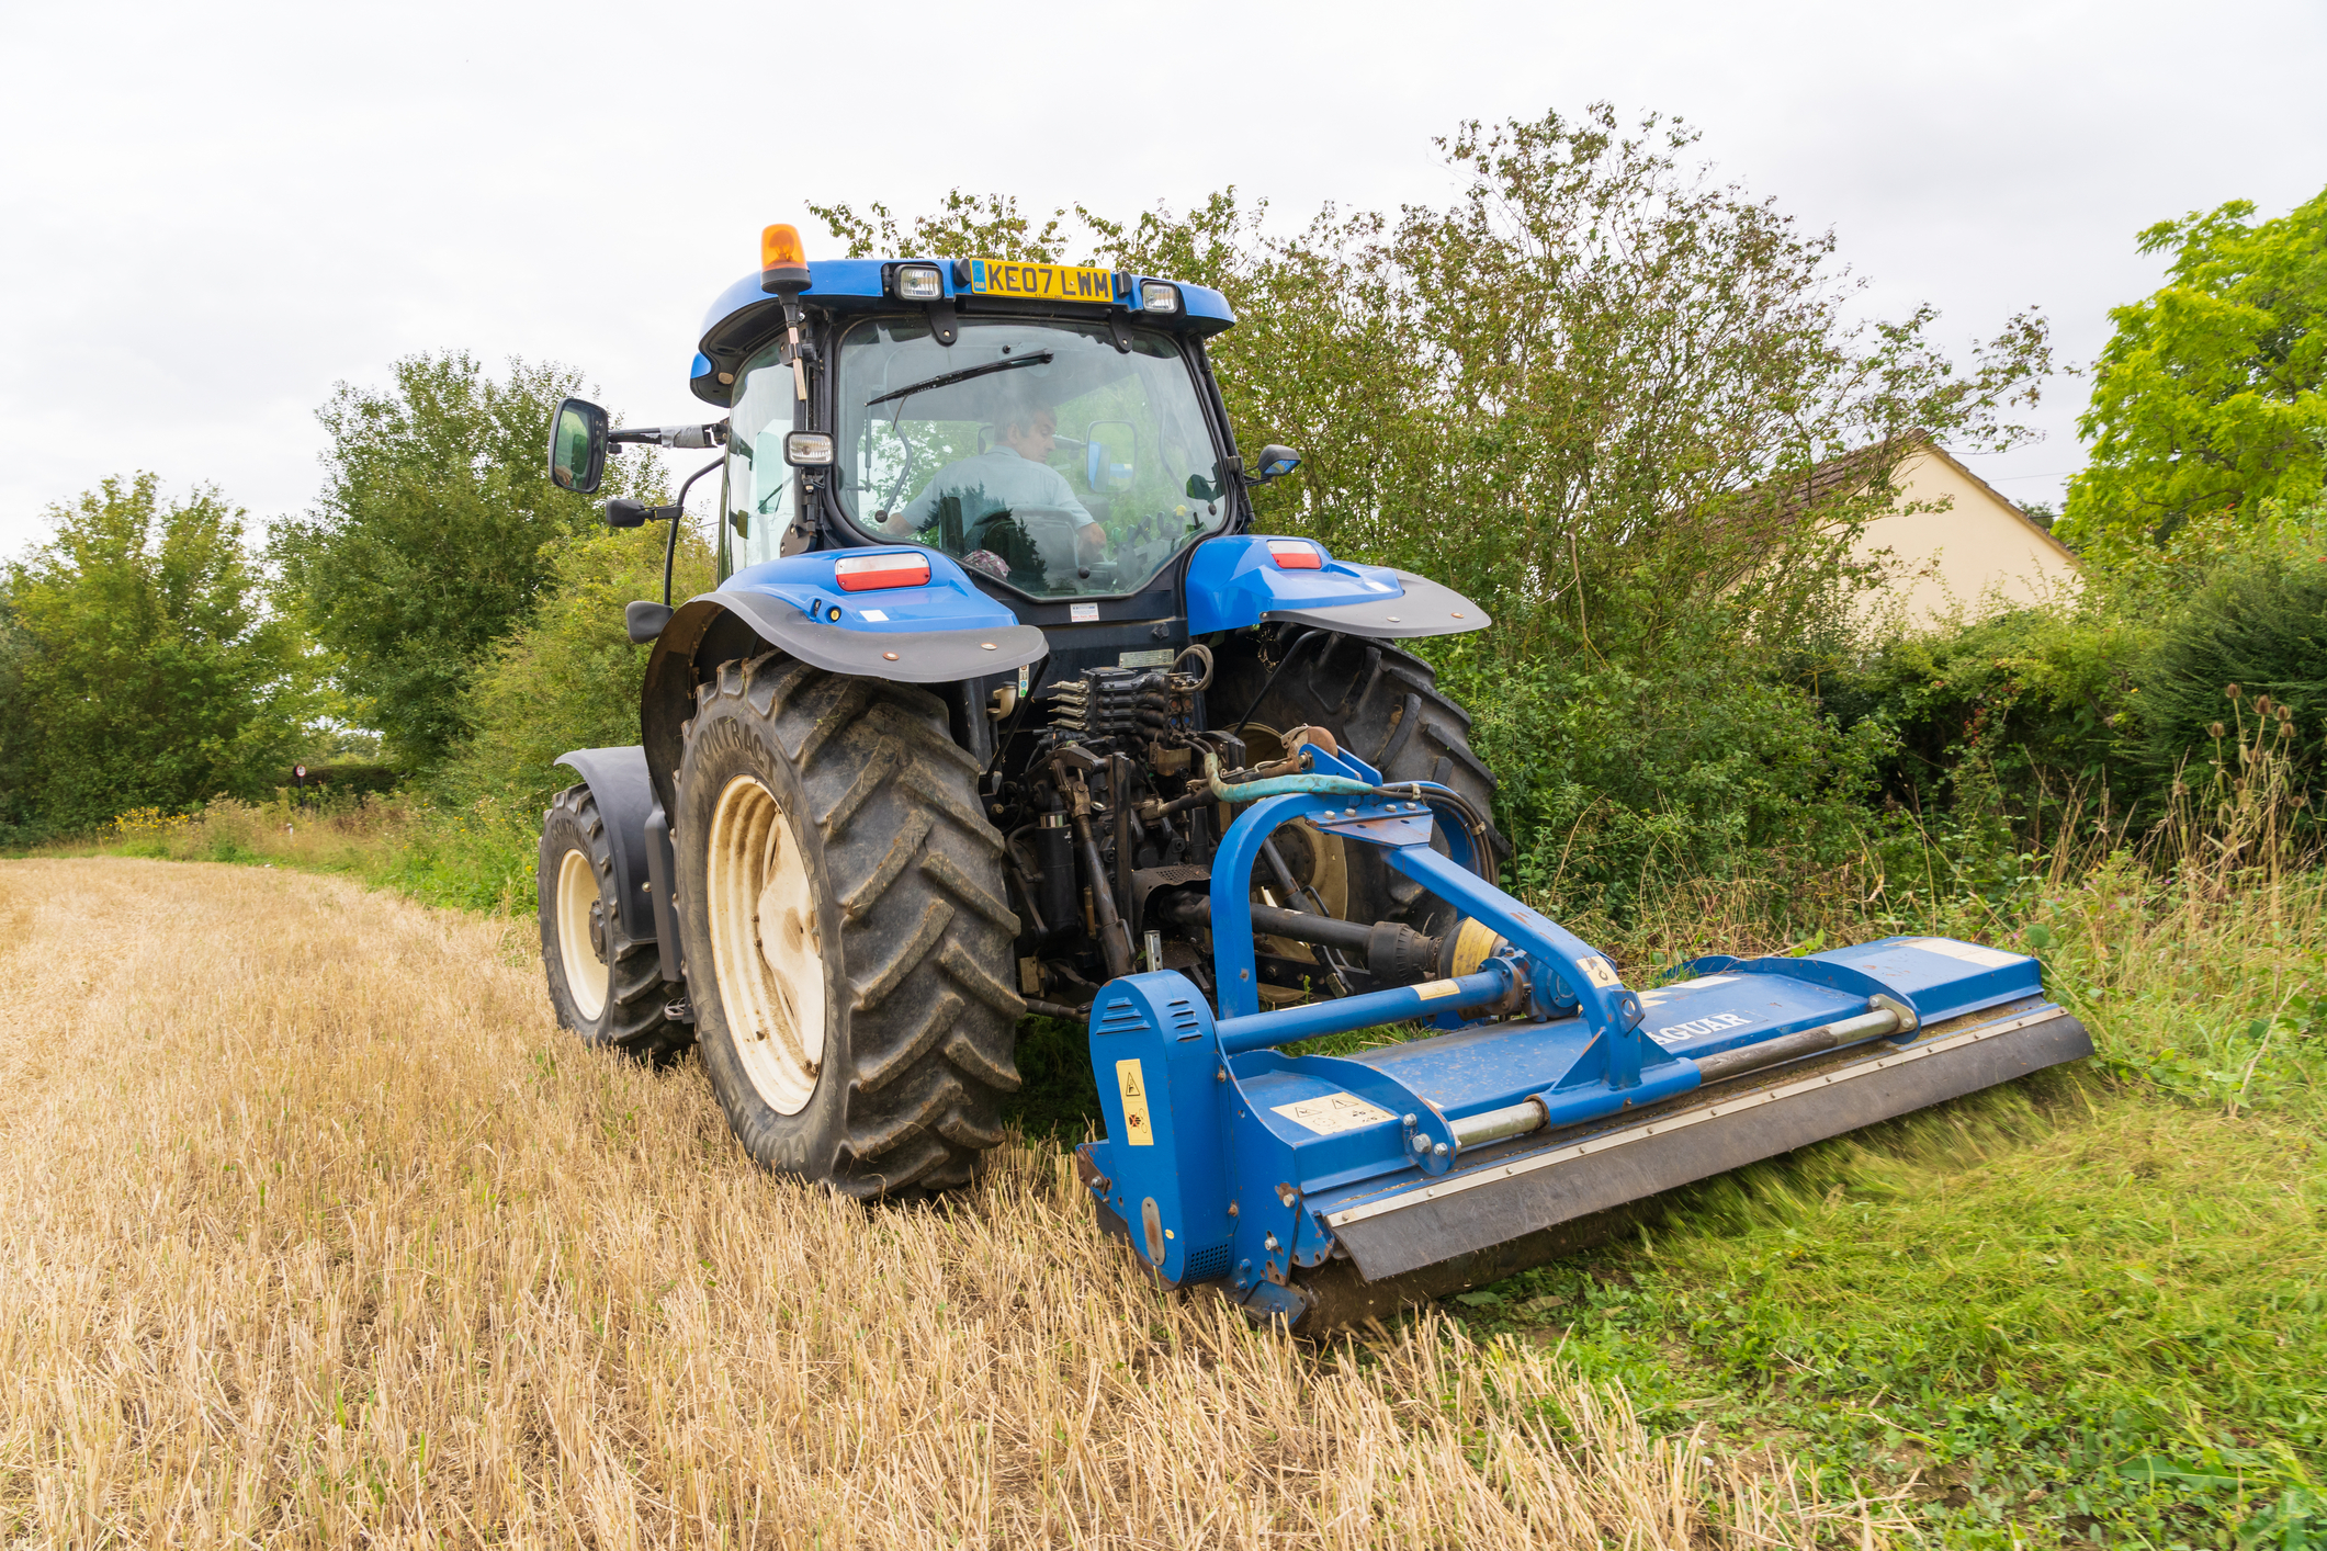
[[[987,258],[807,274],[798,353],[759,274],[705,319],[693,391],[728,409],[724,577],[917,544],[1005,607],[1129,598],[1247,519],[1203,353],[1233,323],[1219,293]]]

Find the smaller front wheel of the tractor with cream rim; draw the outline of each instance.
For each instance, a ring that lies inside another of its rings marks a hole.
[[[568,786],[542,812],[538,879],[542,970],[549,1007],[584,1044],[666,1060],[693,1030],[663,1016],[663,958],[652,942],[621,932],[614,905],[614,849],[589,786]]]

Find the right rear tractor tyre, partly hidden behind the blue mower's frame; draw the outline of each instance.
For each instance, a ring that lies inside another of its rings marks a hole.
[[[1287,651],[1298,656],[1287,663]],[[1273,672],[1278,663],[1285,672]],[[1259,702],[1254,695],[1261,695]],[[1429,663],[1389,642],[1291,632],[1271,644],[1266,663],[1252,651],[1222,653],[1210,702],[1222,716],[1243,719],[1243,737],[1257,760],[1280,758],[1280,735],[1298,726],[1324,728],[1382,779],[1438,781],[1468,798],[1480,816],[1492,814],[1494,774],[1471,751],[1471,714],[1438,688]],[[1496,856],[1487,865],[1494,867],[1510,844],[1492,830],[1492,819],[1489,832]],[[1345,921],[1403,921],[1426,935],[1454,923],[1450,905],[1385,865],[1373,846],[1322,837],[1317,844],[1338,851],[1319,853],[1315,870],[1326,879],[1326,907]],[[1303,865],[1294,860],[1291,870],[1298,877]],[[1336,877],[1347,879],[1340,898],[1333,898]]]

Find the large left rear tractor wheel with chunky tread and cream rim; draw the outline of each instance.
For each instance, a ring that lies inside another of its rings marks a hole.
[[[977,760],[945,705],[782,653],[724,663],[679,763],[703,1067],[759,1163],[847,1195],[970,1179],[1026,1009]]]

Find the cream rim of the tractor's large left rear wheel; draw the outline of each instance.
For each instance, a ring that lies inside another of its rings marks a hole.
[[[800,837],[756,777],[719,793],[705,884],[735,1056],[770,1109],[798,1114],[824,1067],[824,944]]]

